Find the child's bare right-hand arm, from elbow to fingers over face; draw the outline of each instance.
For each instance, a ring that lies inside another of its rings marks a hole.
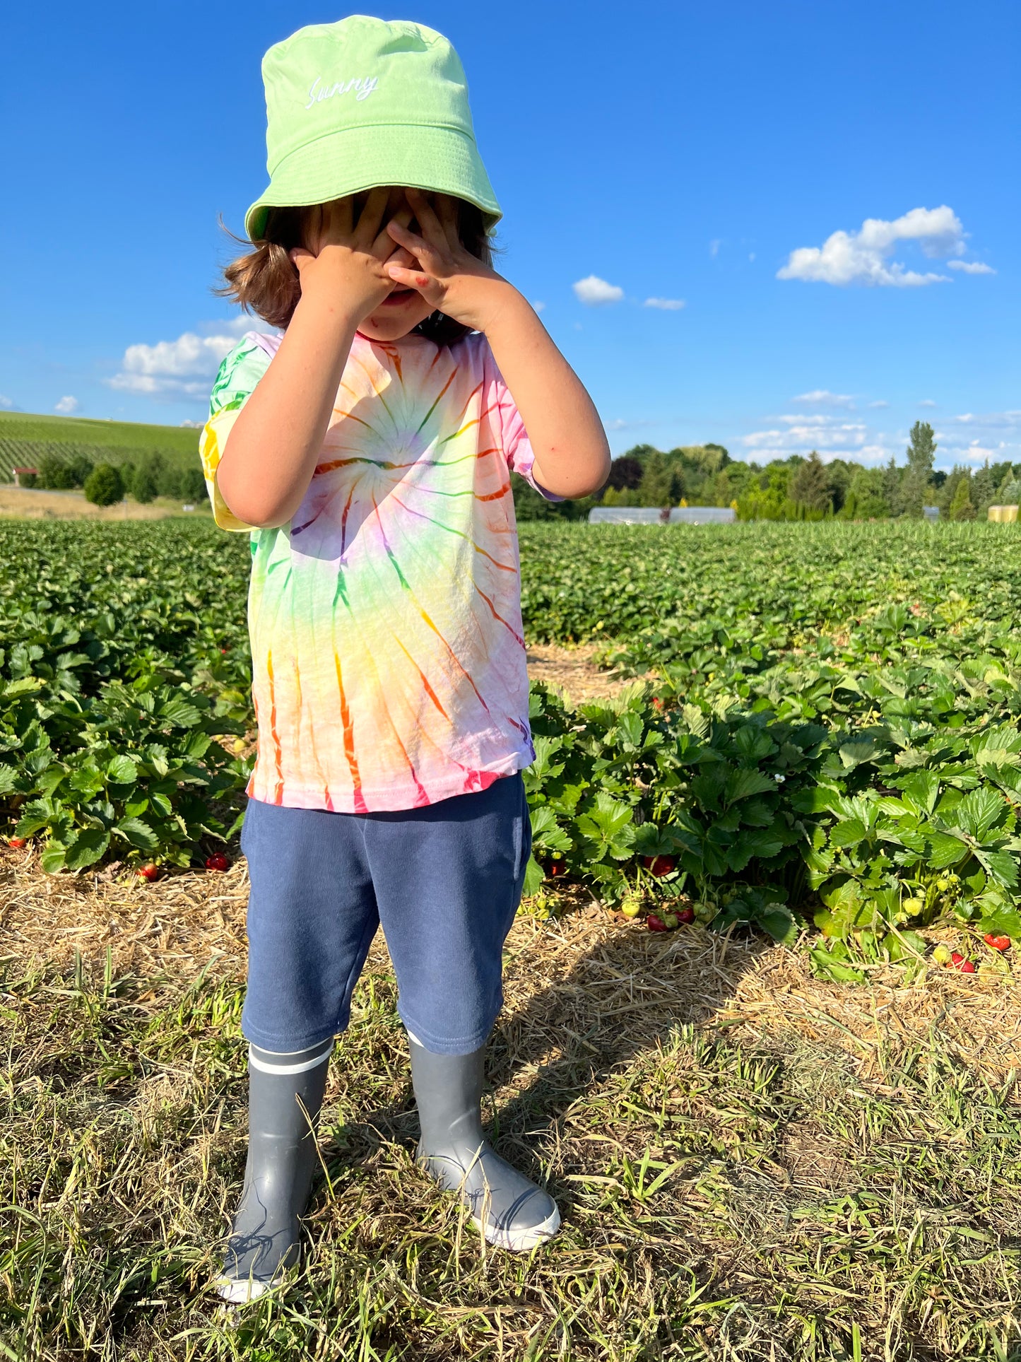
[[[422,236],[393,221],[387,230],[419,268],[388,264],[391,279],[418,289],[434,308],[482,331],[528,432],[536,481],[561,497],[584,497],[606,482],[610,448],[592,399],[534,308],[506,279],[460,244],[453,202],[407,191]]]

